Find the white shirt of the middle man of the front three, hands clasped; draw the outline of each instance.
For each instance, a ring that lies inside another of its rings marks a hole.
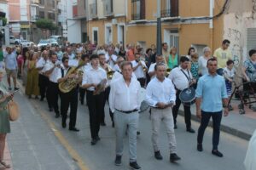
[[[176,90],[172,84],[172,81],[165,77],[163,82],[160,82],[158,78],[154,77],[146,88],[146,101],[148,105],[155,107],[158,102],[168,104],[170,102],[175,103]]]

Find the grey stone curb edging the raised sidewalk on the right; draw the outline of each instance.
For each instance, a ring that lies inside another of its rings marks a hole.
[[[178,115],[184,116],[184,111],[178,111]],[[191,114],[191,120],[193,120],[195,122],[200,122],[200,120],[193,114]],[[212,127],[212,120],[210,120],[208,126]],[[236,136],[238,138],[245,139],[245,140],[248,140],[248,141],[252,137],[252,134],[244,133],[244,132],[241,132],[240,130],[237,130],[236,128],[229,127],[229,126],[222,125],[222,124],[220,125],[220,130],[223,131],[224,133],[229,133],[233,136]]]

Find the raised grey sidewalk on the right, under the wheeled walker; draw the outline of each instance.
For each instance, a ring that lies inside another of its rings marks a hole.
[[[256,129],[256,112],[252,111],[247,105],[245,105],[246,114],[239,114],[239,103],[240,102],[236,100],[231,101],[234,111],[230,111],[229,116],[222,118],[221,130],[241,139],[249,140]],[[191,106],[191,113],[191,119],[196,122],[200,122],[200,120],[195,116],[195,105]],[[183,116],[183,105],[180,106],[179,115]],[[210,121],[210,126],[212,126],[212,120]]]

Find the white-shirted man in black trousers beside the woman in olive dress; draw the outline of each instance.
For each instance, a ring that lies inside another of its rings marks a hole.
[[[49,62],[50,62],[49,61],[49,54],[46,50],[44,50],[43,53],[42,53],[41,58],[38,59],[38,62],[36,64],[36,68],[38,69],[38,73],[39,73],[38,86],[39,86],[40,95],[41,95],[40,101],[44,101],[46,89],[49,86],[49,77],[47,77],[45,75],[45,65],[48,64]],[[51,108],[50,103],[49,103],[49,99],[47,99],[47,101],[48,101],[49,108]]]

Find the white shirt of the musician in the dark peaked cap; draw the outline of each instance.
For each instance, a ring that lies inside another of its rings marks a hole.
[[[85,71],[86,72],[84,72],[82,86],[84,86],[84,84],[90,84],[90,83],[98,84],[98,83],[102,82],[102,80],[108,79],[106,71],[104,71],[100,67],[98,67],[97,69],[90,67],[89,69],[87,69]],[[90,87],[90,88],[87,88],[87,90],[94,91],[95,88]]]

